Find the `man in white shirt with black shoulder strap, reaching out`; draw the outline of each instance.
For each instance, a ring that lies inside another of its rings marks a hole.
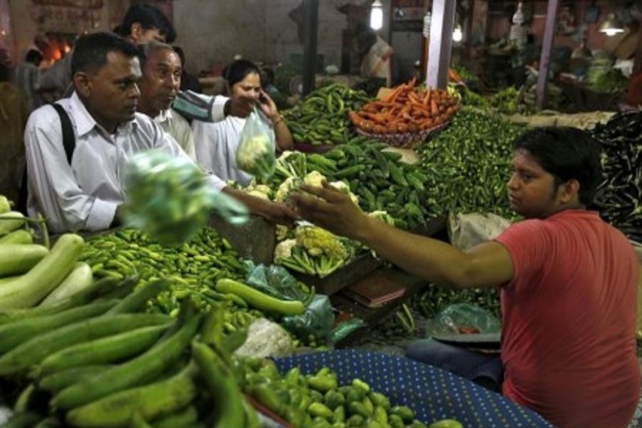
[[[42,213],[54,233],[118,225],[125,200],[123,168],[136,153],[157,148],[188,157],[149,116],[137,113],[141,95],[137,55],[136,46],[116,34],[96,33],[78,40],[71,64],[75,93],[58,101],[75,134],[71,162],[54,108],[43,106],[29,117],[27,209],[30,215]],[[225,187],[215,175],[208,180],[218,190]],[[244,196],[239,199],[246,203]],[[295,217],[285,205],[255,200],[247,205],[272,221],[287,223]]]

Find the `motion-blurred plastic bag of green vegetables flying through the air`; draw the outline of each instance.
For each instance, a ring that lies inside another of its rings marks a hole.
[[[212,188],[198,165],[162,151],[133,156],[125,168],[125,220],[163,245],[192,238],[211,211],[229,223],[248,220],[248,208]]]

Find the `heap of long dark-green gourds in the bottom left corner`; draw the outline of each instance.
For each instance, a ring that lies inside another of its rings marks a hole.
[[[218,311],[203,317],[189,304],[176,319],[136,313],[146,295],[1,324],[11,334],[0,336],[0,347],[12,345],[0,351],[0,375],[21,391],[4,397],[14,407],[6,426],[188,427],[209,419],[258,428],[231,357],[247,332],[224,337]]]

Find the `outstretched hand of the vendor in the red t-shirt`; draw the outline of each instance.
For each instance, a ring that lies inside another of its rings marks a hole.
[[[323,187],[302,185],[290,198],[305,220],[336,235],[361,240],[369,218],[355,205],[350,196],[332,188],[324,180]]]

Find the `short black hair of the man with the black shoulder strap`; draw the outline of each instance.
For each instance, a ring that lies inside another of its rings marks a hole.
[[[107,63],[107,54],[120,52],[133,58],[138,56],[136,45],[118,34],[94,33],[82,36],[76,42],[71,56],[71,74],[78,71],[93,72]]]

